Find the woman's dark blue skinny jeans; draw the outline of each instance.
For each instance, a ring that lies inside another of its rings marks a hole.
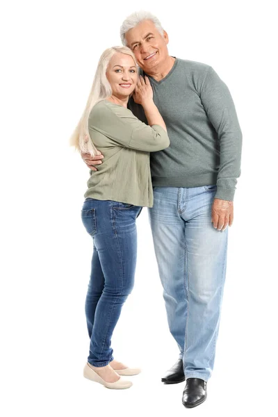
[[[93,239],[92,270],[85,300],[90,336],[88,362],[92,366],[106,366],[113,360],[111,337],[134,284],[136,218],[141,209],[92,198],[83,203],[82,222]]]

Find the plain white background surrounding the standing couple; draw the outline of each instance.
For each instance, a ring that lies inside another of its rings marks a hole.
[[[275,1],[6,1],[1,6],[1,364],[3,416],[274,416],[277,385]],[[136,286],[113,337],[142,366],[113,391],[82,376],[92,242],[80,211],[88,168],[68,145],[97,61],[124,18],[156,14],[172,56],[211,65],[243,130],[222,321],[208,400],[181,404],[160,379],[177,360],[144,209]]]

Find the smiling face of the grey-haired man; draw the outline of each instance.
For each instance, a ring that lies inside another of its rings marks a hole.
[[[168,35],[164,31],[162,36],[150,20],[144,20],[126,32],[126,43],[135,54],[138,65],[147,74],[159,71],[159,66],[168,56]]]

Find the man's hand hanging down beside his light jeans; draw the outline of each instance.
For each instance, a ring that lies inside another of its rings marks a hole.
[[[234,203],[227,200],[215,198],[211,208],[211,221],[213,227],[218,230],[231,226],[234,220]]]

